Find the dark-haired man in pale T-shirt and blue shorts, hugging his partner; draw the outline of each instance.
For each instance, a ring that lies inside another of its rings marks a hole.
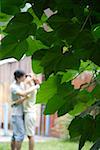
[[[14,72],[15,82],[11,85],[11,96],[12,101],[17,104],[12,105],[12,127],[13,136],[11,142],[11,150],[20,150],[21,144],[24,139],[24,120],[23,120],[23,105],[22,102],[27,99],[27,95],[34,92],[35,89],[39,88],[39,85],[34,85],[24,90],[23,82],[26,79],[26,75],[22,70],[16,70]]]

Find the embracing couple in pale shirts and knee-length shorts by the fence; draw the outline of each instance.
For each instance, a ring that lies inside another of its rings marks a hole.
[[[24,136],[29,139],[29,150],[34,149],[36,93],[39,81],[22,70],[14,72],[15,82],[11,85],[13,136],[11,150],[20,150]]]

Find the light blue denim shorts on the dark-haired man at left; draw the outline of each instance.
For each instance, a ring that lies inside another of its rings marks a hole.
[[[12,141],[23,141],[25,135],[23,116],[12,116]]]

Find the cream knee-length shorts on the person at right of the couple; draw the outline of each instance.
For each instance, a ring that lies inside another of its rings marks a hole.
[[[24,121],[25,121],[25,133],[27,136],[34,136],[35,135],[35,115],[34,113],[25,113],[24,114]]]

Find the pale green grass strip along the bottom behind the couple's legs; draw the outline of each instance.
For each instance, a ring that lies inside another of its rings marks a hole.
[[[91,144],[86,143],[82,150],[89,150]],[[10,150],[10,143],[0,143],[0,150]],[[24,142],[22,150],[28,150],[28,143]],[[35,150],[78,150],[78,143],[50,141],[35,144]]]

